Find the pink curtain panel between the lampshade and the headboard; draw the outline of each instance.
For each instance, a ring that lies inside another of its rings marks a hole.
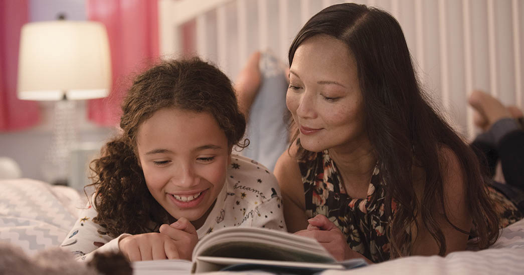
[[[88,0],[89,20],[107,28],[111,47],[113,88],[110,95],[89,102],[89,119],[118,125],[120,104],[133,75],[158,60],[157,0]]]

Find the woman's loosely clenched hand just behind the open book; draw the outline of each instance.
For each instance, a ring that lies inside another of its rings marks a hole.
[[[305,230],[298,231],[294,234],[316,239],[328,252],[337,260],[342,261],[352,258],[364,258],[366,262],[370,261],[352,250],[346,242],[346,237],[328,218],[324,215],[316,215],[308,220],[309,225]]]

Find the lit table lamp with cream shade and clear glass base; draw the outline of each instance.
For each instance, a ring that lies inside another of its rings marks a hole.
[[[43,164],[48,182],[67,182],[77,138],[74,100],[106,97],[111,58],[104,25],[94,21],[41,21],[22,27],[17,96],[55,100],[52,144]]]

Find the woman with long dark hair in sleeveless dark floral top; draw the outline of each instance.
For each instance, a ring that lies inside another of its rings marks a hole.
[[[381,262],[464,250],[470,235],[486,248],[521,219],[424,97],[391,15],[325,8],[299,31],[289,64],[297,130],[275,167],[288,231],[339,260]]]

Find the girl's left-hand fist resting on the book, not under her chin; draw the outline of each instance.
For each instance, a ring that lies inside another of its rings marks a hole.
[[[160,233],[138,234],[122,238],[120,251],[129,261],[178,259],[177,244],[169,236]]]

